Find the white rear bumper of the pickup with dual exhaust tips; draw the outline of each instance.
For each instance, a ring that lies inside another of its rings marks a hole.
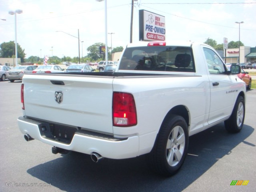
[[[23,134],[29,134],[32,138],[43,143],[63,148],[70,151],[77,151],[85,154],[96,152],[102,157],[112,159],[125,159],[138,156],[139,138],[131,136],[127,138],[114,138],[108,135],[99,135],[92,132],[77,130],[72,140],[67,144],[47,138],[42,134],[41,122],[26,117],[18,118],[18,126]],[[48,130],[49,131],[49,130]]]

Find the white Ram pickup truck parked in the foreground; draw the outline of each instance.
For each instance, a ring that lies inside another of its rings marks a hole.
[[[124,49],[115,72],[26,74],[21,86],[27,141],[124,159],[145,155],[159,174],[182,166],[188,137],[225,121],[240,132],[246,85],[217,52],[196,42],[137,42]]]

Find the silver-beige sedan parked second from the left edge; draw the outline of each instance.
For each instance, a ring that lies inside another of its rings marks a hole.
[[[35,69],[36,67],[33,65],[22,65],[14,67],[13,69],[8,71],[8,79],[10,80],[10,82],[14,82],[15,80],[22,80],[24,74],[32,73],[32,71]]]

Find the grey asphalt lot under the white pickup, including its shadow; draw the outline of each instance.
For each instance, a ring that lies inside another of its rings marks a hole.
[[[165,178],[151,172],[145,156],[94,163],[88,155],[55,155],[52,146],[26,142],[17,126],[20,85],[0,82],[0,191],[255,191],[256,90],[246,93],[240,133],[227,133],[221,123],[191,136],[183,167]],[[249,182],[231,186],[232,180]]]

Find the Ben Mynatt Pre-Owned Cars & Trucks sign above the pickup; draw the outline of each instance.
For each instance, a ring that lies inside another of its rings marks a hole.
[[[165,41],[165,17],[139,10],[140,40]]]

